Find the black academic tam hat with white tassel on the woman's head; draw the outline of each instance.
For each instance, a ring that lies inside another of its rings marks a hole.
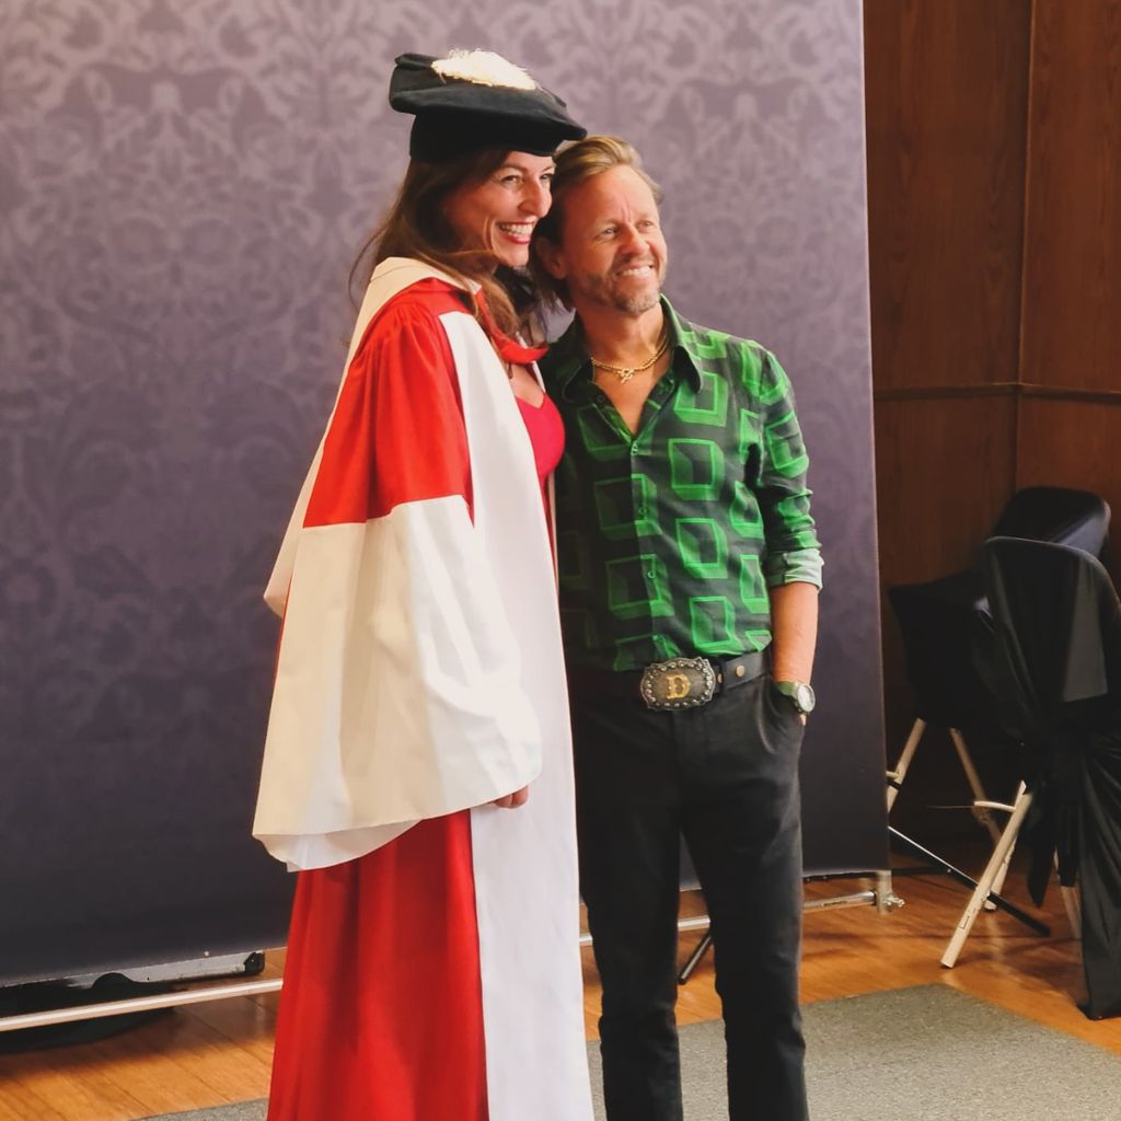
[[[565,103],[525,71],[485,50],[453,50],[446,58],[400,55],[389,104],[414,113],[409,155],[429,164],[488,149],[552,156],[587,129]]]

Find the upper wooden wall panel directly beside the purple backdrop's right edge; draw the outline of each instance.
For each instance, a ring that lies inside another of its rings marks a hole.
[[[877,388],[1016,380],[1030,0],[865,0]]]

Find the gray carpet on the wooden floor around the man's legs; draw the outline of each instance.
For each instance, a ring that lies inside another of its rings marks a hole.
[[[813,1121],[1096,1121],[1121,1113],[1121,1058],[945,985],[808,1004],[805,1017]],[[602,1118],[594,1044],[590,1054]],[[724,1121],[720,1023],[682,1029],[682,1064],[685,1117]],[[263,1102],[243,1102],[160,1121],[263,1118]]]

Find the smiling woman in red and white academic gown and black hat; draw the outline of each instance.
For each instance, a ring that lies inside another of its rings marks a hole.
[[[479,53],[402,55],[390,104],[413,161],[266,593],[253,833],[304,870],[269,1118],[585,1121],[563,436],[500,281],[584,130]]]

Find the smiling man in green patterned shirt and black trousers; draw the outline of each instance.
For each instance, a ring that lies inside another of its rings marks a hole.
[[[562,619],[581,889],[610,1121],[682,1118],[679,836],[712,919],[733,1121],[804,1121],[798,751],[821,555],[775,358],[661,296],[634,149],[563,151],[535,270],[576,313],[543,363],[565,419]]]

